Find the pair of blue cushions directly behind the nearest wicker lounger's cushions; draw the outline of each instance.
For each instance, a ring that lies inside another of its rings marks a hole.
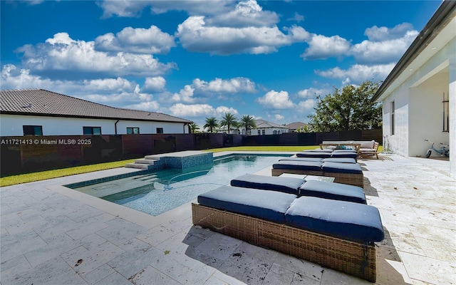
[[[363,188],[341,183],[245,174],[234,178],[231,186],[279,191],[298,197],[311,196],[367,204]]]

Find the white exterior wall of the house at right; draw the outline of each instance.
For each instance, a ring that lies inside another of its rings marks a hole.
[[[456,177],[456,38],[447,43],[386,97],[383,136],[399,155],[425,155],[432,140],[450,145],[450,175]],[[408,70],[403,71],[410,72]],[[393,83],[394,84],[394,83]],[[442,132],[442,93],[450,98],[450,132]],[[390,102],[395,101],[395,135],[390,134]]]

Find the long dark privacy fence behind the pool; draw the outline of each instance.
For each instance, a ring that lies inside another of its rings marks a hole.
[[[281,135],[154,134],[1,137],[1,176],[90,165],[182,150],[240,145],[318,145],[323,140],[376,140],[382,130]]]

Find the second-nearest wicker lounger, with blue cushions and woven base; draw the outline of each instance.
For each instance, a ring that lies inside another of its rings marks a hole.
[[[358,163],[281,160],[272,165],[272,176],[283,173],[334,177],[334,182],[364,188],[364,175]]]

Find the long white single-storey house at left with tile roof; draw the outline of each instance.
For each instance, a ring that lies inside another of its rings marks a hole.
[[[191,120],[113,108],[43,89],[0,90],[2,136],[189,133]]]

